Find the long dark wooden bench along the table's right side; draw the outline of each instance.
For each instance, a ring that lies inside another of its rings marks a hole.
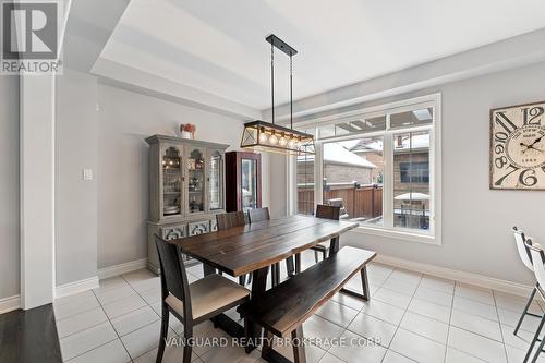
[[[257,301],[240,306],[240,313],[262,326],[267,338],[271,334],[286,338],[302,339],[302,324],[324,305],[358,273],[362,273],[364,295],[368,299],[365,267],[376,256],[375,252],[346,246],[308,269],[267,290]],[[303,344],[293,347],[295,363],[305,362]],[[262,358],[267,362],[289,362],[276,352],[265,339]]]

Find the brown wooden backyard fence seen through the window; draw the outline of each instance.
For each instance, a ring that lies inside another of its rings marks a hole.
[[[329,199],[342,199],[349,218],[375,218],[383,215],[383,187],[353,184],[325,187],[324,203]],[[314,190],[298,189],[298,208],[301,214],[313,214]]]

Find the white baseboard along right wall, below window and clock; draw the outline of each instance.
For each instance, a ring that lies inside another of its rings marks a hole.
[[[375,262],[524,298],[528,298],[533,288],[528,285],[500,280],[472,273],[459,271],[447,267],[428,265],[414,261],[385,256],[383,254],[377,254]]]

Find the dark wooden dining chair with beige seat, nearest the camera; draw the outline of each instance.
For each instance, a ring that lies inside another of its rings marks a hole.
[[[193,327],[250,301],[250,291],[218,274],[190,285],[182,251],[157,234],[155,244],[161,267],[161,332],[156,362],[162,361],[172,313],[183,324],[183,363],[190,363]]]

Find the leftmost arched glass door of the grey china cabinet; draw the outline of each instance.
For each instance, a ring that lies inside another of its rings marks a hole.
[[[162,167],[162,215],[165,217],[182,214],[182,173],[181,153],[174,146],[165,150]]]

